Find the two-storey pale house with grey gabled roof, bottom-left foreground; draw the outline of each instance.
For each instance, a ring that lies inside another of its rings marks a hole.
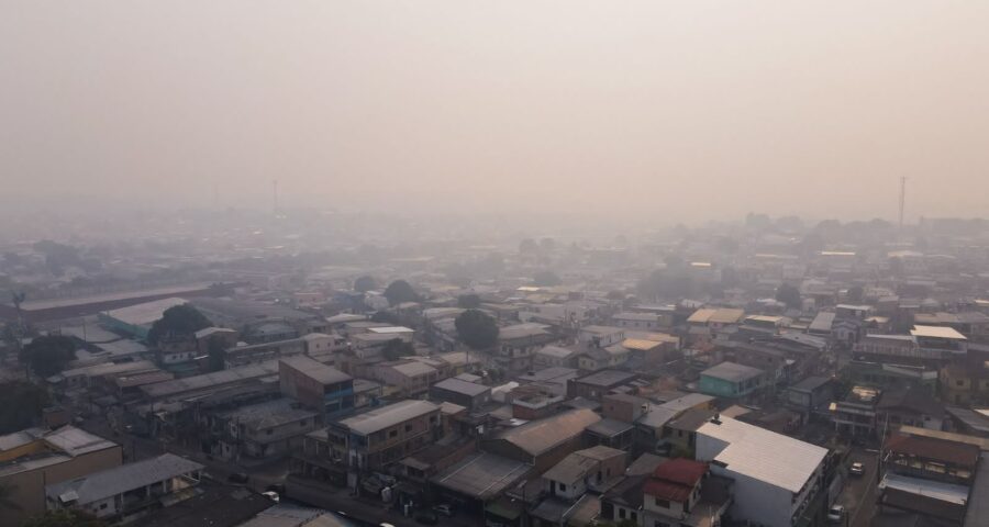
[[[91,472],[45,486],[49,511],[70,508],[97,518],[133,519],[191,497],[204,467],[174,453]]]

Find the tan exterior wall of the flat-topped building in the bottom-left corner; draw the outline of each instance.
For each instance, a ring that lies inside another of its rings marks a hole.
[[[14,487],[11,501],[22,507],[21,511],[0,507],[0,525],[21,525],[27,517],[44,513],[45,485],[120,467],[122,462],[123,450],[120,446],[114,446],[71,458],[63,463],[0,476],[0,484]]]

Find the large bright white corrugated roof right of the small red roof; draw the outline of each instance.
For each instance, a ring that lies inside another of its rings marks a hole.
[[[800,492],[827,455],[826,448],[721,416],[720,423],[705,423],[698,436],[727,444],[713,461],[727,470],[769,484]],[[699,451],[700,452],[700,451]],[[712,461],[701,459],[700,461]]]

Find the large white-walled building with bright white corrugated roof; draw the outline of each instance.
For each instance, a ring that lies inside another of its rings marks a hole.
[[[697,430],[698,461],[734,481],[734,520],[792,527],[822,492],[827,449],[725,416]]]

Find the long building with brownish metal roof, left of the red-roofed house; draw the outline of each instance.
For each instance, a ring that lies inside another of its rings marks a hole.
[[[481,448],[542,472],[579,450],[584,446],[584,430],[599,421],[601,417],[590,410],[570,410],[509,428],[497,438],[484,441]]]

